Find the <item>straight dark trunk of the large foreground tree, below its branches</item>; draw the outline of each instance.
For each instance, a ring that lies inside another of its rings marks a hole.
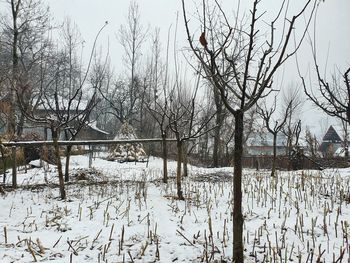
[[[235,117],[234,174],[233,174],[233,260],[243,259],[243,214],[242,214],[242,154],[243,154],[243,112]]]

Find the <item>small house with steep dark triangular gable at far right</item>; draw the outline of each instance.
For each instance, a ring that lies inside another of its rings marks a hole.
[[[340,138],[337,131],[331,125],[326,134],[323,136],[319,151],[324,157],[334,156],[334,153],[342,147],[343,140]]]

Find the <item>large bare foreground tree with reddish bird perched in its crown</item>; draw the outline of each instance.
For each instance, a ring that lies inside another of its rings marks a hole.
[[[195,58],[201,63],[204,75],[219,91],[226,109],[234,116],[234,179],[233,179],[233,260],[243,262],[243,214],[242,214],[242,154],[244,115],[257,101],[266,95],[271,88],[273,77],[285,61],[293,56],[298,49],[304,34],[296,39],[296,48],[290,50],[289,42],[296,26],[296,21],[303,17],[307,8],[313,10],[315,3],[310,0],[299,13],[291,18],[287,14],[288,4],[283,1],[276,18],[270,23],[269,38],[259,40],[259,23],[263,14],[258,12],[259,0],[253,1],[250,10],[250,25],[246,28],[239,24],[238,17],[234,24],[228,21],[228,16],[215,1],[215,6],[221,11],[222,21],[217,30],[222,35],[216,39],[215,46],[210,46],[207,40],[207,8],[206,1],[202,3],[203,15],[200,21],[202,33],[199,43],[193,39],[190,31],[190,20],[182,0],[183,16],[190,49]],[[312,5],[314,3],[314,5]],[[277,21],[282,19],[282,32],[276,34]],[[191,20],[192,21],[192,20]],[[307,24],[310,20],[307,19]],[[304,32],[304,31],[303,31]],[[268,32],[266,32],[268,33]]]

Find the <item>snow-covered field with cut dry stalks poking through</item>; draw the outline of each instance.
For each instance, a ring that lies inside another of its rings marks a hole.
[[[0,197],[0,262],[230,262],[232,168],[190,167],[180,201],[175,165],[164,185],[157,158],[74,156],[66,201],[54,166],[19,171]],[[244,170],[246,262],[350,262],[350,170],[269,174]]]

